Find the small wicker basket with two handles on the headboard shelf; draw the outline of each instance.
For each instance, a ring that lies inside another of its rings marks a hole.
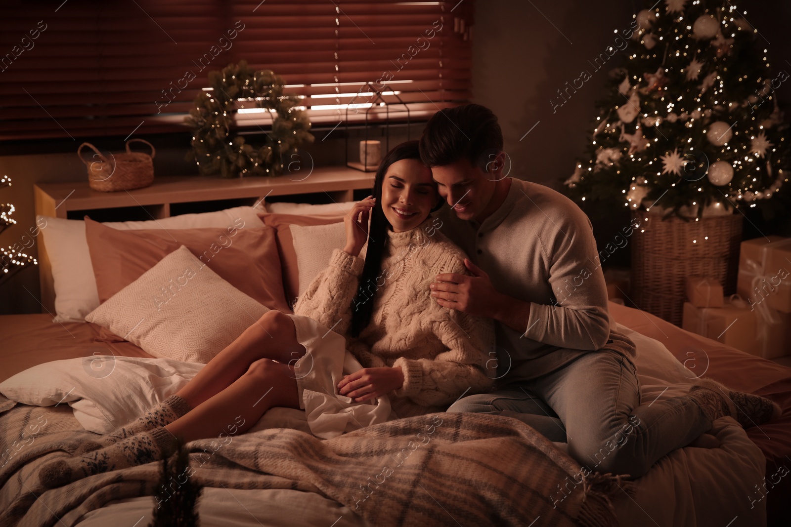
[[[151,155],[142,152],[131,152],[129,144],[140,142],[149,145]],[[82,156],[82,149],[87,146],[96,152],[93,160],[86,160]],[[93,190],[114,192],[115,190],[138,189],[149,186],[153,182],[153,157],[157,151],[145,139],[130,139],[127,141],[127,152],[110,154],[108,160],[104,154],[90,143],[82,143],[77,149],[77,155],[88,167],[88,184]]]

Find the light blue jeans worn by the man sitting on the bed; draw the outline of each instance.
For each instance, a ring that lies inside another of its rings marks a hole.
[[[589,470],[632,477],[712,425],[687,396],[641,405],[634,364],[609,350],[585,353],[539,378],[463,397],[448,412],[517,418],[551,441],[567,441],[571,457]]]

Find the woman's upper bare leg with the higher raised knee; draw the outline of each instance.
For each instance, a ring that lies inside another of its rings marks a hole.
[[[303,355],[305,347],[297,342],[297,331],[291,318],[281,311],[267,311],[236,341],[214,356],[176,395],[196,408],[231,386],[258,359],[293,364]]]

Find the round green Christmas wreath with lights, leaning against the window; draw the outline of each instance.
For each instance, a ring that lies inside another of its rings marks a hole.
[[[271,70],[253,71],[247,62],[229,64],[209,73],[210,90],[195,97],[195,107],[185,119],[192,127],[192,149],[187,160],[195,160],[202,175],[224,178],[247,175],[280,175],[283,159],[312,142],[310,122],[299,110],[297,96],[283,95],[284,81]],[[237,101],[252,102],[272,112],[272,130],[261,146],[244,137],[231,136]]]

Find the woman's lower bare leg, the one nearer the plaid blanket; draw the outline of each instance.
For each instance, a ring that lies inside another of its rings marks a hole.
[[[259,359],[225,390],[165,428],[184,442],[239,435],[274,406],[300,408],[293,367]]]

